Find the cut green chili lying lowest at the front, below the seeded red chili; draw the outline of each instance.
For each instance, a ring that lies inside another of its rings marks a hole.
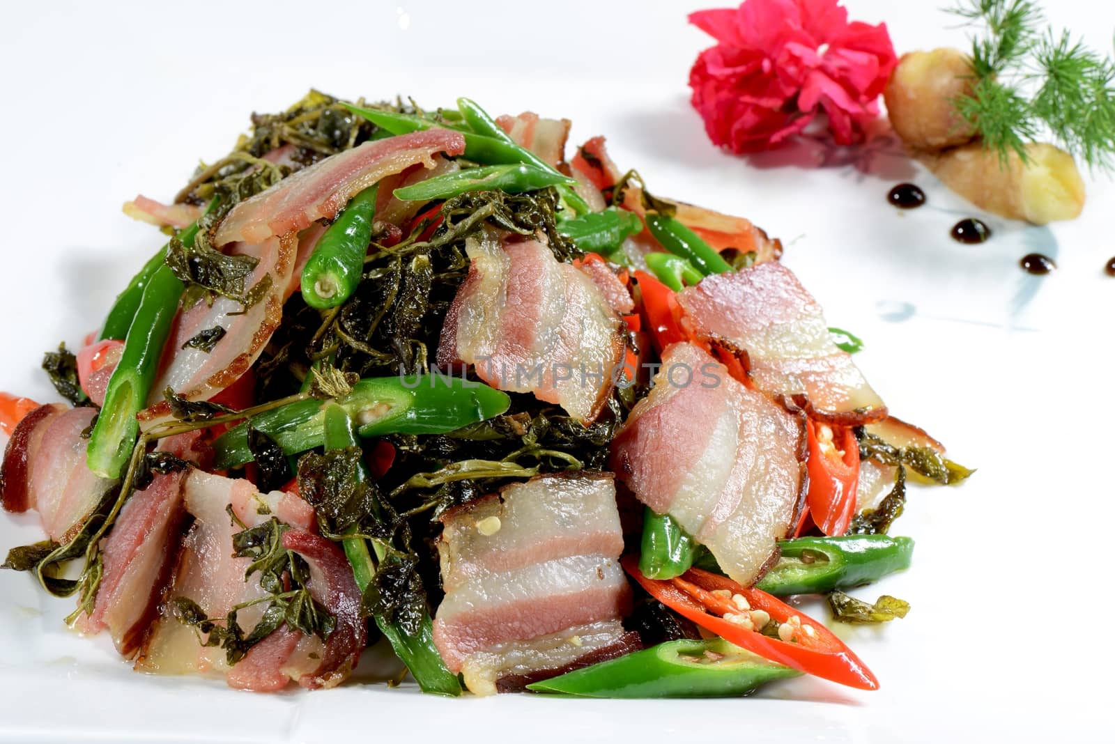
[[[581,697],[717,697],[801,674],[723,638],[671,640],[527,688]]]

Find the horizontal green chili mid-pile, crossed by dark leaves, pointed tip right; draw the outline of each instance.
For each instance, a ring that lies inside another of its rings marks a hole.
[[[479,382],[442,374],[369,378],[336,401],[357,423],[360,437],[388,433],[438,434],[491,419],[507,410],[506,393]],[[288,403],[230,429],[213,443],[219,470],[250,462],[248,423],[294,454],[321,447],[324,409],[319,400]]]

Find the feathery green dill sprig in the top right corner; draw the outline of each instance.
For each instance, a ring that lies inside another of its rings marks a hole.
[[[950,12],[980,29],[971,40],[975,82],[956,107],[986,147],[1025,161],[1027,143],[1048,135],[1089,168],[1115,167],[1109,58],[1055,33],[1031,0],[961,0]]]

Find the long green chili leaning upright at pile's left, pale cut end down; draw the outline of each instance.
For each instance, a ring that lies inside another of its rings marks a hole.
[[[136,414],[147,404],[184,290],[182,281],[165,265],[144,286],[120,361],[108,380],[105,404],[89,437],[89,470],[101,478],[119,478],[132,457],[139,434]]]

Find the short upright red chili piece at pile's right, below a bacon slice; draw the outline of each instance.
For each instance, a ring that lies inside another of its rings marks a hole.
[[[809,491],[805,502],[822,532],[843,535],[855,515],[860,443],[851,428],[807,421],[805,429],[809,439]]]

